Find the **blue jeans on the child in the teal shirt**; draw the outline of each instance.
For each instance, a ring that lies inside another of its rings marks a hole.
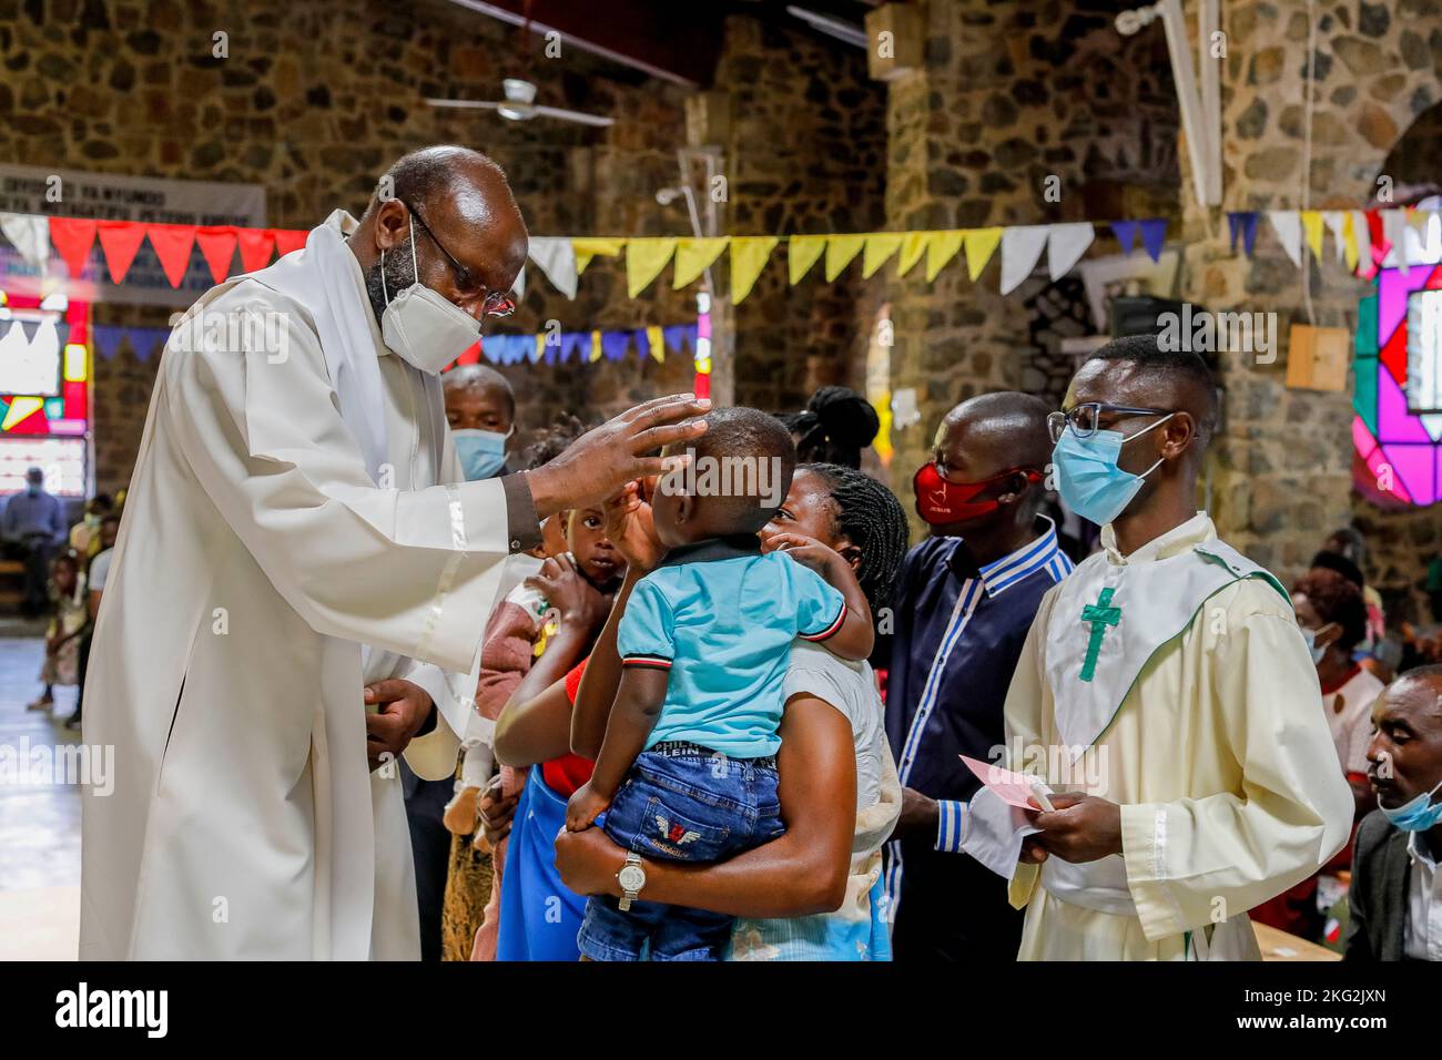
[[[694,753],[643,751],[603,822],[620,847],[656,861],[724,861],[786,831],[776,767]],[[596,896],[577,942],[593,960],[721,960],[733,917],[702,909]]]

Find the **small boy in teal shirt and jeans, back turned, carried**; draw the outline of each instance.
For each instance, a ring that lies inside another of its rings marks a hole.
[[[671,552],[632,591],[606,737],[567,806],[570,831],[606,811],[607,836],[633,854],[691,862],[784,831],[774,756],[792,642],[822,642],[854,661],[872,646],[870,607],[836,552],[760,549],[756,535],[796,467],[786,428],[751,408],[711,412],[707,424],[688,450],[691,467],[662,480],[652,502],[656,538]],[[587,903],[583,956],[722,958],[730,916],[633,898],[629,888],[619,901]]]

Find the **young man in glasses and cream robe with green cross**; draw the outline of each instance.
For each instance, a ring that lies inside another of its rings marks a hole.
[[[1259,959],[1246,911],[1347,842],[1288,594],[1194,506],[1216,414],[1203,361],[1152,337],[1093,355],[1054,414],[1103,549],[1043,599],[1007,697],[1009,764],[1053,812],[983,789],[963,841],[1027,909],[1019,959]]]

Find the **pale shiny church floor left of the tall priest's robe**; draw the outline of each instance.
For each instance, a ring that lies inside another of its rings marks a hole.
[[[0,626],[0,747],[79,741],[62,724],[75,689],[55,689],[50,712],[26,711],[40,692],[45,643]],[[0,773],[0,960],[72,960],[79,933],[81,796],[74,785],[17,783]]]

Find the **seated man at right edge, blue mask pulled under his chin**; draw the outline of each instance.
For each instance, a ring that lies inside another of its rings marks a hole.
[[[1345,960],[1442,960],[1442,666],[1397,678],[1373,710],[1377,809],[1357,829]]]

